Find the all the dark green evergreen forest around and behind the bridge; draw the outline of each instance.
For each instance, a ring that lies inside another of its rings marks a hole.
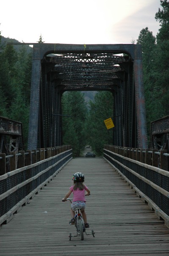
[[[152,35],[146,27],[136,42],[142,45],[143,52],[148,133],[151,121],[169,115],[169,1],[160,2],[161,8],[155,14],[155,20],[160,23],[158,34]],[[26,150],[32,49],[7,44],[11,41],[16,42],[4,38],[0,32],[0,115],[22,122]],[[42,35],[38,42],[44,43]],[[103,144],[112,143],[113,129],[107,130],[104,124],[106,118],[113,116],[112,94],[94,92],[90,99],[90,92],[65,92],[62,103],[63,113],[72,117],[63,117],[64,144],[72,145],[75,156],[79,156],[87,144],[100,155]]]

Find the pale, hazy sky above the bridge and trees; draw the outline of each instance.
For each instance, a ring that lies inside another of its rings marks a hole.
[[[131,43],[145,27],[157,35],[159,7],[160,0],[4,0],[0,31],[25,43],[41,34],[45,43]]]

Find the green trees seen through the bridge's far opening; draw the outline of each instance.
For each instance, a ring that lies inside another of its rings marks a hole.
[[[73,155],[80,156],[84,147],[101,155],[104,144],[111,144],[113,130],[107,130],[104,120],[113,116],[113,95],[111,92],[97,92],[94,101],[86,104],[83,92],[65,92],[62,96],[63,141],[71,144]]]

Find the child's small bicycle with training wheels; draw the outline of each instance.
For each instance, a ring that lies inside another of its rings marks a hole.
[[[66,200],[69,200],[72,203],[73,198],[67,198]],[[83,220],[83,217],[81,216],[80,213],[80,208],[75,208],[75,228],[76,228],[76,236],[78,236],[78,234],[80,234],[80,239],[84,240],[84,233],[86,233],[86,228],[85,228],[85,223]],[[91,233],[86,233],[87,236],[89,235],[93,235],[94,237],[94,231],[91,230]],[[76,237],[76,236],[72,236],[72,233],[69,233],[69,241],[71,240],[72,237]]]

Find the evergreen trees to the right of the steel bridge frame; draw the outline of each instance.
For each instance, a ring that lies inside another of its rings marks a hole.
[[[151,121],[169,115],[169,1],[160,2],[162,9],[155,14],[160,23],[158,34],[155,37],[146,27],[137,39],[142,45],[148,135]]]

